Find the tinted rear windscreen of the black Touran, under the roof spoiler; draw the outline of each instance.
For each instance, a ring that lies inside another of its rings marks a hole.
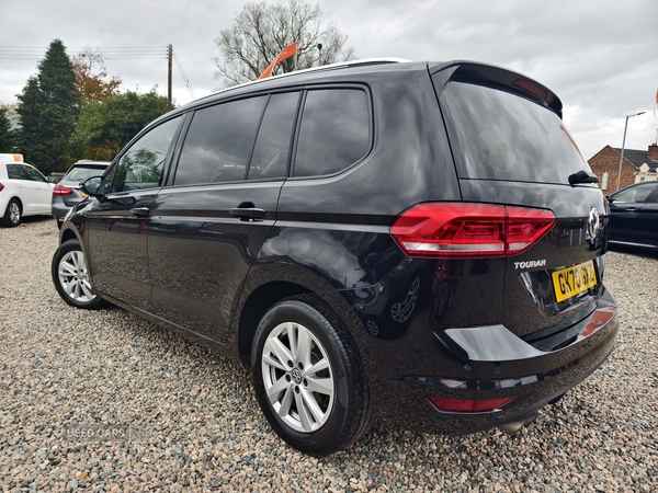
[[[568,184],[590,170],[563,121],[533,101],[453,81],[440,103],[461,179]]]

